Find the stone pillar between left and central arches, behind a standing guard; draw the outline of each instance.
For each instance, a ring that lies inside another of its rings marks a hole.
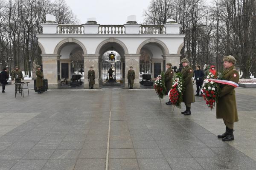
[[[88,71],[90,66],[95,71],[95,84],[93,88],[99,88],[99,54],[84,54],[84,88],[89,88]]]

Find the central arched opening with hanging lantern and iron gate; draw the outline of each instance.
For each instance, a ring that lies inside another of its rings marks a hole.
[[[117,42],[105,42],[99,52],[99,83],[102,86],[122,86],[125,77],[125,49]],[[111,59],[110,54],[115,56]]]

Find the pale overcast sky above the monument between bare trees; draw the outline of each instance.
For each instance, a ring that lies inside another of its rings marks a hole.
[[[143,23],[143,11],[151,0],[66,0],[81,24],[96,17],[99,24],[125,24],[129,15]]]

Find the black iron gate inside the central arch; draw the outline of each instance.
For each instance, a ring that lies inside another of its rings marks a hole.
[[[108,81],[109,68],[112,68],[113,78],[116,79],[116,81],[122,80],[122,62],[104,60],[102,61],[102,82]]]

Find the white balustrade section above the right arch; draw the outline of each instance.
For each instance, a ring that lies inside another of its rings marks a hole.
[[[163,25],[141,25],[140,34],[166,34]]]

